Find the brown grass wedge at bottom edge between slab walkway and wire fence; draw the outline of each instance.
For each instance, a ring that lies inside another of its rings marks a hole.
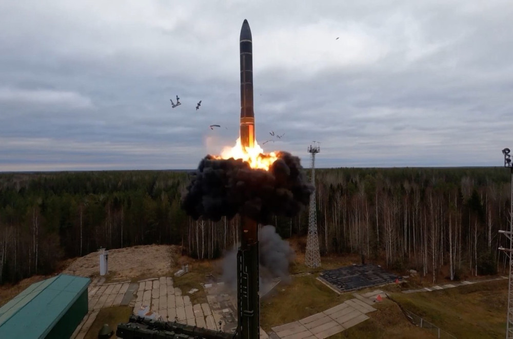
[[[384,298],[382,303],[373,305],[373,307],[378,310],[367,313],[370,319],[330,336],[330,339],[435,338],[428,330],[411,324],[399,306],[390,300]]]

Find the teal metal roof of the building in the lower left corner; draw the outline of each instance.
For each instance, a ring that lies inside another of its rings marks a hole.
[[[0,308],[0,338],[45,337],[90,282],[60,274],[30,285]]]

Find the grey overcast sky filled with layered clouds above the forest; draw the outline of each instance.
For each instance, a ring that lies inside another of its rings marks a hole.
[[[195,168],[234,145],[245,18],[257,141],[285,134],[266,152],[500,166],[512,17],[510,0],[3,0],[0,171]]]

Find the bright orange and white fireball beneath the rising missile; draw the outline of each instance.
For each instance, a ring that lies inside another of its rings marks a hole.
[[[275,152],[264,153],[262,147],[255,140],[253,147],[243,147],[241,138],[237,139],[234,147],[225,147],[221,156],[214,156],[216,159],[242,159],[247,162],[251,168],[260,168],[269,171],[269,166],[278,159]]]

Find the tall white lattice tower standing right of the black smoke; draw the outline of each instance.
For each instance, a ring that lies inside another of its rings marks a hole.
[[[312,174],[310,182],[315,186],[315,154],[321,152],[319,143],[313,142],[308,147],[310,153],[310,168]],[[317,236],[317,208],[315,207],[315,191],[310,196],[310,213],[308,217],[308,238],[306,241],[305,265],[308,267],[321,266],[321,253],[319,252],[319,237]]]

